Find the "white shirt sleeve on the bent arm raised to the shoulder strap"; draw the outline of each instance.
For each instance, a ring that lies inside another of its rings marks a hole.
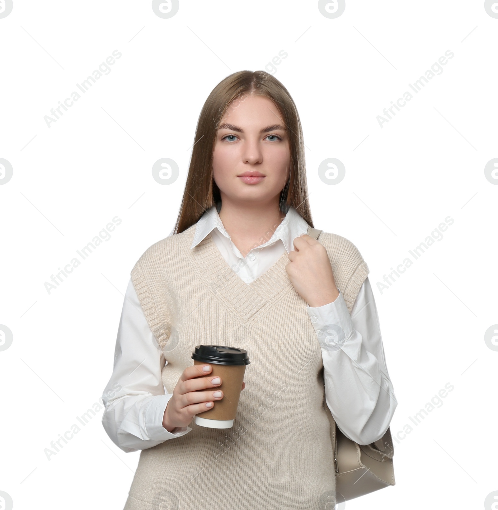
[[[351,315],[340,289],[333,302],[306,310],[322,349],[325,399],[337,426],[358,444],[377,441],[398,402],[369,279],[363,282]]]

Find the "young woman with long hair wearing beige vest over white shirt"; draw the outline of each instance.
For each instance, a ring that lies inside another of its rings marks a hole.
[[[125,510],[318,508],[335,491],[326,406],[359,444],[384,435],[397,401],[368,266],[312,227],[294,101],[231,74],[202,108],[175,234],[126,290],[102,418],[142,450]],[[248,351],[230,429],[193,419],[223,398],[200,344]]]

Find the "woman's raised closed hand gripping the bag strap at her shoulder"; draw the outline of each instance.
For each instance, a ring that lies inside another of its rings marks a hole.
[[[325,246],[303,234],[294,239],[294,248],[285,271],[297,293],[312,308],[335,301],[339,291]]]

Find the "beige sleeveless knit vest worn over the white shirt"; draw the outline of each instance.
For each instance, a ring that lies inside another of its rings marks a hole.
[[[124,510],[333,508],[322,352],[285,271],[287,252],[248,285],[211,235],[190,248],[195,228],[150,246],[131,273],[168,362],[163,383],[172,393],[195,346],[214,344],[247,350],[246,388],[231,428],[193,419],[186,435],[142,450]],[[351,312],[368,266],[347,239],[321,232],[318,240]]]

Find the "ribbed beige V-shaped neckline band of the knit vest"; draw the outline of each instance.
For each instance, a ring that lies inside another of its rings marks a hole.
[[[308,233],[309,228],[308,225]],[[222,296],[228,306],[244,320],[251,318],[267,303],[273,302],[293,287],[285,271],[285,266],[289,264],[287,250],[263,274],[247,284],[225,261],[211,233],[194,248],[190,246],[195,235],[195,225],[192,225],[191,232],[185,231],[185,234],[185,246],[199,267],[204,283],[212,292]]]

